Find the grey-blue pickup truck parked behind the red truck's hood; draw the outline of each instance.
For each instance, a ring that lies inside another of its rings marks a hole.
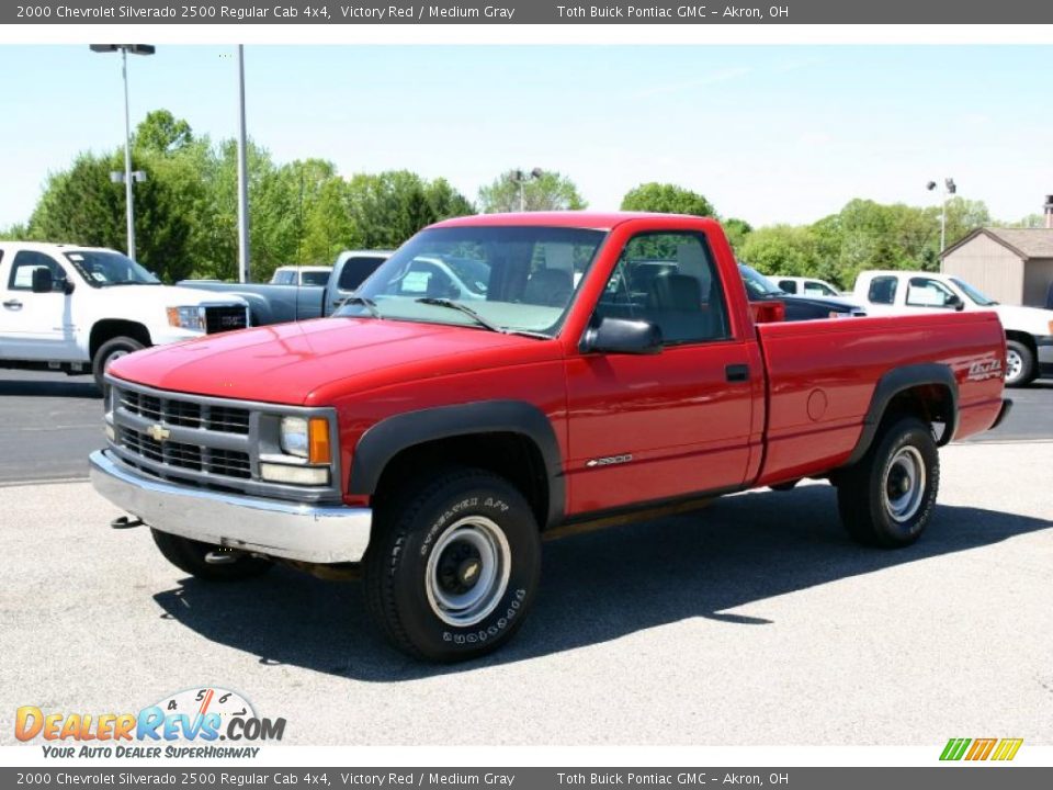
[[[331,315],[389,255],[389,250],[341,252],[331,268],[325,268],[327,281],[324,285],[225,283],[216,280],[183,280],[177,284],[245,300],[252,326],[284,324]]]

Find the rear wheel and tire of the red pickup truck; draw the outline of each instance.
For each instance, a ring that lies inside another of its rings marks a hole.
[[[928,526],[939,488],[940,455],[931,428],[916,417],[901,417],[840,475],[841,522],[864,545],[910,545]]]

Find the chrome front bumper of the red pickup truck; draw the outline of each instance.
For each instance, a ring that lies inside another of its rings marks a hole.
[[[370,544],[370,508],[299,505],[179,486],[137,474],[105,450],[88,460],[97,492],[162,532],[313,563],[360,562]]]

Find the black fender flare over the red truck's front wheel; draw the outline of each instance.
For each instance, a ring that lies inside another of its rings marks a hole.
[[[522,400],[478,400],[407,411],[381,420],[359,439],[348,492],[372,495],[388,462],[403,450],[473,433],[519,433],[541,452],[548,481],[548,515],[542,528],[563,520],[566,482],[556,432],[545,413]]]

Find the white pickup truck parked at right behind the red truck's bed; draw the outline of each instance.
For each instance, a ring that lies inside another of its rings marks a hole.
[[[1053,311],[998,304],[964,280],[919,271],[864,271],[854,300],[869,315],[993,311],[1006,330],[1006,386],[1053,375]]]

